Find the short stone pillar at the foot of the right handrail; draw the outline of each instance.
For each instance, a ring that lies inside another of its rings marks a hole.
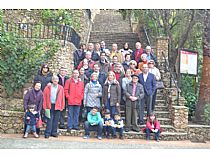
[[[188,108],[186,106],[172,106],[172,125],[178,131],[185,131],[188,125]]]

